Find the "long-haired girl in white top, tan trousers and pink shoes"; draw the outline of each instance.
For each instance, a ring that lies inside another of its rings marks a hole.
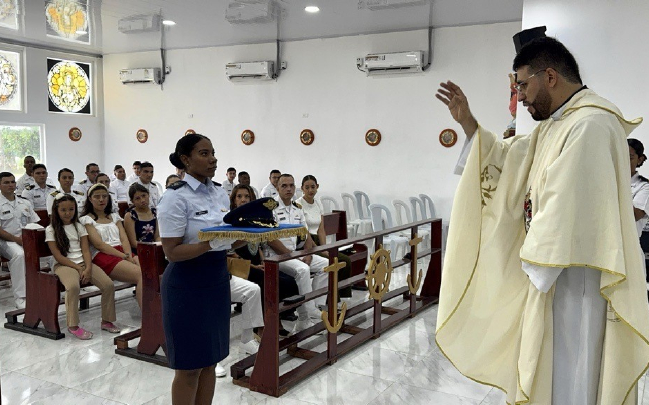
[[[92,338],[92,332],[79,327],[79,288],[94,284],[101,291],[101,329],[119,332],[115,321],[113,282],[92,264],[88,233],[77,220],[77,202],[69,194],[58,194],[54,200],[51,225],[45,229],[45,242],[53,255],[53,271],[66,286],[67,330],[79,339]]]

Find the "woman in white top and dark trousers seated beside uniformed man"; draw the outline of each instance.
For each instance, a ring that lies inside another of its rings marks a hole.
[[[324,236],[324,225],[323,225],[323,214],[324,208],[321,202],[315,200],[315,194],[317,194],[320,185],[318,184],[315,176],[310,174],[302,178],[302,196],[297,199],[297,203],[302,205],[302,211],[304,212],[304,218],[306,219],[306,226],[309,228],[309,233],[313,242],[317,246],[326,244],[326,237]],[[321,256],[326,257],[324,253],[318,253]],[[338,261],[345,262],[345,268],[341,268],[338,272],[338,281],[343,281],[349,279],[352,273],[352,260],[349,259],[349,256],[344,253],[338,253]],[[352,296],[352,286],[347,286],[339,290],[341,298],[349,298]]]

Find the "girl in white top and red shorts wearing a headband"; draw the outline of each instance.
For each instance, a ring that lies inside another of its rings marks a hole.
[[[92,244],[92,262],[114,281],[136,284],[135,296],[142,307],[142,270],[137,257],[130,255],[129,238],[118,214],[112,212],[108,188],[101,183],[88,189],[84,216],[79,222],[86,226]]]

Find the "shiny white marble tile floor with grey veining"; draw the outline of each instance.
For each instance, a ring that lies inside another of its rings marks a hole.
[[[424,267],[425,268],[425,267]],[[395,270],[393,281],[401,283],[406,270]],[[352,304],[367,299],[354,290]],[[396,300],[395,300],[396,301]],[[0,288],[0,316],[10,307],[11,293]],[[388,303],[391,304],[391,303]],[[402,307],[403,305],[400,305]],[[117,324],[123,331],[137,328],[140,310],[130,292],[116,293]],[[80,313],[84,327],[93,330],[92,340],[66,337],[52,341],[0,327],[0,399],[3,405],[168,405],[171,404],[173,371],[114,354],[115,335],[99,329],[99,299]],[[497,389],[462,376],[439,353],[434,343],[437,308],[432,307],[371,340],[297,384],[280,399],[254,393],[232,384],[229,376],[217,379],[214,404],[245,405],[486,405],[504,404]],[[60,318],[65,325],[65,318]],[[357,316],[353,325],[371,324],[369,314]],[[223,365],[243,358],[235,343],[241,333],[241,317],[231,322],[230,356]],[[339,335],[339,341],[349,335]],[[133,342],[132,345],[136,344]],[[324,350],[324,338],[312,338],[301,347]],[[281,359],[282,372],[303,360]],[[640,380],[639,404],[644,397],[646,376]]]

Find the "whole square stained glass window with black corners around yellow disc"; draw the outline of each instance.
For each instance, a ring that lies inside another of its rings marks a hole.
[[[90,114],[90,64],[47,58],[48,110]]]

